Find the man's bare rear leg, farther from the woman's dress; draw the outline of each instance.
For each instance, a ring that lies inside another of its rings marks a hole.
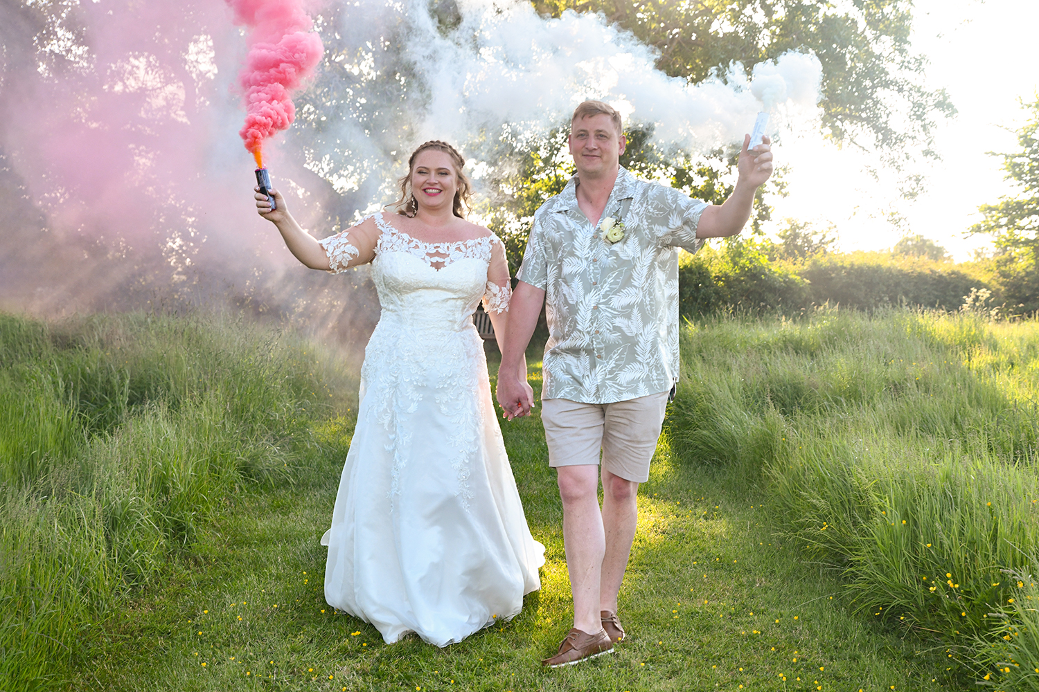
[[[603,469],[603,528],[606,551],[600,577],[598,609],[617,612],[617,593],[638,523],[639,485]]]

